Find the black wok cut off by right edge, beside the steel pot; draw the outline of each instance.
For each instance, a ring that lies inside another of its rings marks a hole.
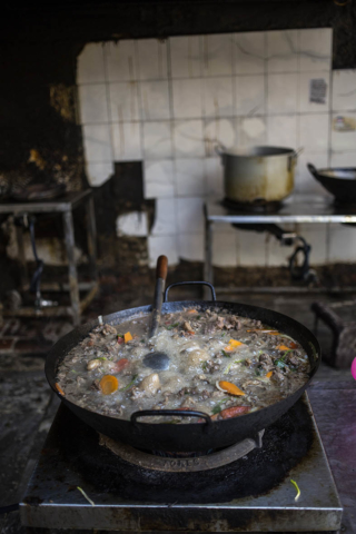
[[[316,169],[307,165],[309,172],[340,204],[356,204],[356,169],[352,167]]]

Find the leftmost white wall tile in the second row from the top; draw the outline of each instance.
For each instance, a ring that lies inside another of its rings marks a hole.
[[[80,122],[108,122],[107,87],[105,83],[79,86]]]

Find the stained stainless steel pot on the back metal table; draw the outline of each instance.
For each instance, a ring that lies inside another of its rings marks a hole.
[[[225,196],[235,202],[264,205],[286,198],[294,188],[298,152],[293,148],[216,147],[224,165]]]

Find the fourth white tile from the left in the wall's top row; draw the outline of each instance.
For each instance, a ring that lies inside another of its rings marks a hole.
[[[197,78],[201,75],[200,37],[171,37],[170,61],[172,78]]]

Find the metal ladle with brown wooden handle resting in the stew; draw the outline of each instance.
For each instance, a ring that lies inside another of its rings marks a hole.
[[[168,258],[167,256],[159,256],[156,267],[156,288],[155,300],[151,313],[151,324],[149,328],[148,338],[150,339],[157,333],[160,323],[160,313],[164,300],[164,290],[167,278]],[[167,370],[169,368],[169,357],[165,353],[155,352],[148,353],[142,360],[146,367],[154,370]]]

